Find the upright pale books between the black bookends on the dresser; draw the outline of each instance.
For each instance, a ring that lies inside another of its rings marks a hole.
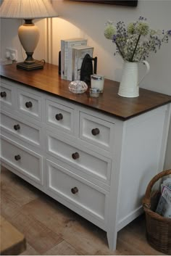
[[[80,80],[80,67],[86,54],[93,57],[93,47],[87,46],[86,39],[61,40],[61,78]]]

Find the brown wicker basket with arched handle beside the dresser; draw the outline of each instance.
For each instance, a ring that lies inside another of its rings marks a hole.
[[[146,212],[146,237],[151,247],[159,252],[171,255],[171,218],[164,218],[154,212],[152,205],[157,205],[159,193],[151,195],[151,189],[159,178],[171,174],[170,170],[164,170],[151,179],[143,198],[143,210]]]

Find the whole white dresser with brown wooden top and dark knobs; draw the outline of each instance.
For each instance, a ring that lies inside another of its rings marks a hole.
[[[171,96],[141,90],[125,99],[106,80],[93,99],[69,83],[54,65],[1,68],[1,165],[107,231],[115,249],[163,170]]]

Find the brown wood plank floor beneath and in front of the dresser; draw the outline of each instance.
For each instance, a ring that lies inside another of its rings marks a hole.
[[[25,235],[22,255],[162,255],[146,241],[144,215],[119,231],[111,252],[106,232],[4,168],[1,215]]]

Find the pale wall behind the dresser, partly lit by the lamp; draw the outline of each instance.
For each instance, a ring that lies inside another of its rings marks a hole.
[[[149,20],[151,28],[171,29],[171,1],[170,0],[138,0],[138,7],[122,7],[109,4],[81,3],[67,0],[52,0],[54,8],[59,13],[58,18],[52,19],[52,60],[58,65],[60,40],[73,37],[84,37],[88,44],[94,47],[94,56],[98,57],[98,72],[106,78],[120,81],[122,59],[114,57],[115,46],[112,41],[104,37],[104,24],[107,20],[130,22],[139,16]],[[18,23],[3,21],[1,33],[1,51],[5,46],[17,48],[20,54],[20,44],[17,41]],[[34,57],[46,59],[45,22],[39,21],[41,28],[41,42]],[[6,32],[6,33],[4,33]],[[10,45],[11,44],[11,45]],[[1,53],[1,56],[3,54]],[[151,54],[148,59],[151,70],[141,83],[142,88],[159,91],[171,95],[171,38],[169,44],[162,45],[157,54]],[[140,67],[140,76],[143,68]],[[167,142],[165,168],[171,168],[171,125]]]

